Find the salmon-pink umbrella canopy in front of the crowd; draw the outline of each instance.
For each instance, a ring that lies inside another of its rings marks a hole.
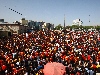
[[[44,75],[63,75],[65,73],[65,66],[62,63],[47,63],[43,69]]]

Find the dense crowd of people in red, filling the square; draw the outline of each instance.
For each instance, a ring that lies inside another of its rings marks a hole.
[[[34,31],[0,39],[0,75],[43,75],[48,62],[66,75],[100,75],[99,31]],[[40,71],[41,70],[41,71]]]

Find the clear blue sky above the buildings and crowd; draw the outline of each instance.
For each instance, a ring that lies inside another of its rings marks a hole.
[[[64,14],[66,26],[75,19],[83,25],[100,25],[100,0],[0,0],[0,19],[9,23],[25,18],[63,26]]]

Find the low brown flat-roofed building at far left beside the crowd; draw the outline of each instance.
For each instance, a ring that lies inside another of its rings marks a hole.
[[[22,34],[29,30],[28,26],[16,24],[2,23],[0,24],[0,36],[11,36],[13,34]]]

